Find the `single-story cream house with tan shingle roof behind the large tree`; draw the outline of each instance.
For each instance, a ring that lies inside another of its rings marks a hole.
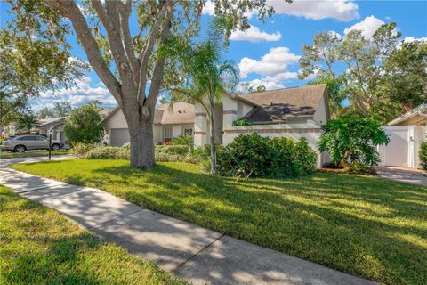
[[[260,134],[269,137],[287,136],[298,140],[307,138],[317,149],[321,126],[329,120],[326,85],[307,85],[251,94],[226,94],[214,106],[214,135],[217,142],[228,144],[239,134]],[[250,125],[234,126],[245,119]],[[119,107],[104,119],[106,137],[110,145],[129,142],[125,116]],[[209,142],[206,111],[201,104],[187,102],[157,108],[154,121],[155,142],[169,142],[180,134],[194,134],[194,144]],[[319,154],[318,166],[326,162]]]

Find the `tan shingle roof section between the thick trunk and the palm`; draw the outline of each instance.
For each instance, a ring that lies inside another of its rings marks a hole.
[[[157,110],[162,111],[162,125],[182,125],[194,123],[194,105],[188,102],[173,103],[172,108],[170,104],[163,104],[157,107]],[[160,116],[158,114],[157,116]],[[156,124],[156,113],[155,113]]]

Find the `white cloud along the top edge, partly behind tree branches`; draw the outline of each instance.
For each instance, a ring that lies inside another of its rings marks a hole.
[[[283,0],[268,0],[267,4],[273,6],[278,14],[293,15],[310,20],[332,18],[349,21],[359,18],[359,6],[353,0],[294,0],[292,4]],[[214,14],[214,4],[211,1],[206,2],[203,13]]]

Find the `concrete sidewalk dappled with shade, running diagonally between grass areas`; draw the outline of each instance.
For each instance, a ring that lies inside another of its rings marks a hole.
[[[140,208],[98,189],[9,168],[0,169],[0,184],[194,284],[374,284]]]

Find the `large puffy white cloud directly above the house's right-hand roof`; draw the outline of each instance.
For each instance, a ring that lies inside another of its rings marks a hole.
[[[264,54],[261,61],[244,57],[240,60],[238,68],[242,78],[249,73],[257,73],[262,76],[277,76],[287,71],[287,66],[297,63],[301,56],[291,53],[287,47],[275,47],[270,53]]]

